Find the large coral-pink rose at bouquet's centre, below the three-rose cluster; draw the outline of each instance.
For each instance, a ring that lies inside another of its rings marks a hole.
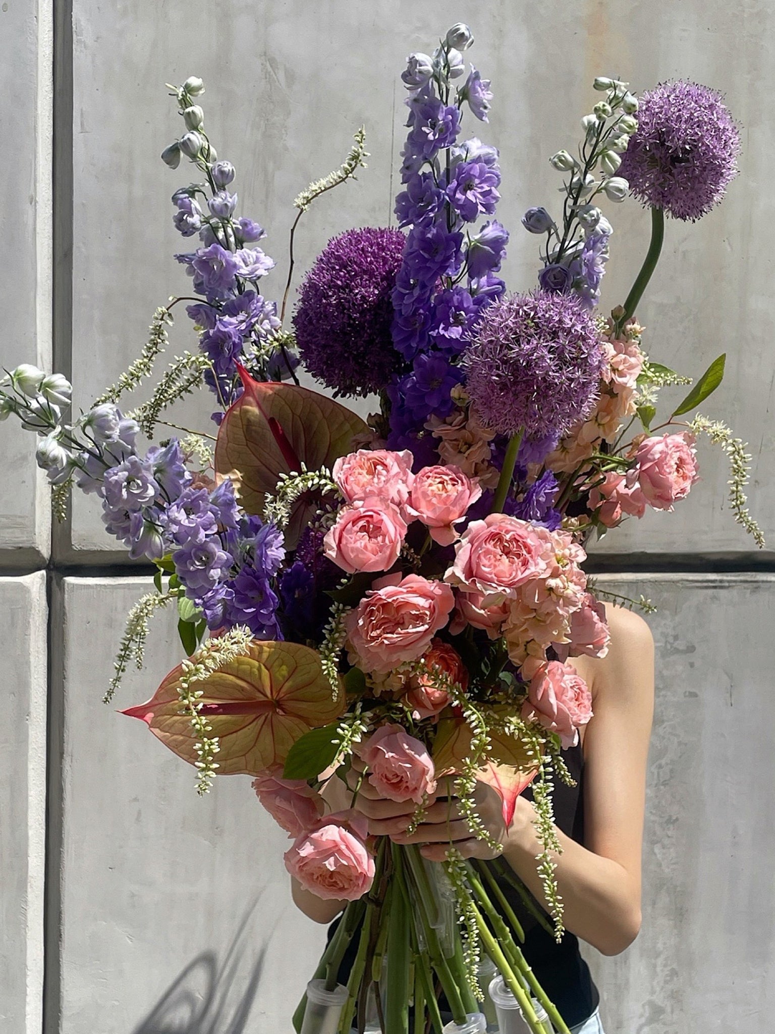
[[[344,624],[359,666],[384,674],[426,652],[448,621],[455,597],[448,585],[420,575],[393,575],[375,584]]]

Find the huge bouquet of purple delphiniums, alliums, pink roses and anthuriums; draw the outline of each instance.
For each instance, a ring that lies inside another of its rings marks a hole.
[[[542,241],[537,287],[507,294],[498,152],[462,131],[464,119],[486,124],[492,101],[466,65],[471,43],[459,24],[431,55],[409,57],[398,227],[330,241],[291,327],[300,219],[365,165],[363,130],[342,166],[295,202],[278,308],[260,290],[275,265],[264,231],[237,214],[235,169],[206,132],[203,83],[172,87],[184,131],[162,158],[172,169],[186,158],[199,177],[173,194],[177,229],[197,238],[176,255],[191,297],[157,310],[137,360],[70,422],[62,375],[23,365],[0,387],[0,416],[38,436],[55,512],[65,515],[73,483],[96,494],[107,534],[156,566],[106,699],[142,663],[153,613],[176,606],[187,657],[124,713],[195,766],[199,792],[216,773],[252,777],[291,838],[287,870],[347,903],[295,1016],[304,1034],[481,1031],[492,1000],[519,1007],[534,1034],[567,1034],[496,874],[537,905],[486,860],[499,845],[476,787],[497,791],[505,829],[532,784],[537,865],[560,934],[552,784],[570,779],[561,752],[591,718],[572,659],[605,656],[609,640],[610,594],[587,579],[585,545],[629,516],[672,511],[698,478],[703,433],[729,454],[732,510],[763,544],[745,446],[695,412],[724,357],[657,423],[659,389],[690,382],[648,357],[636,320],[664,216],[700,218],[735,175],[738,130],[721,98],[677,82],[639,100],[626,83],[595,80],[577,154],[551,158],[561,211],[531,208],[522,220]],[[603,318],[606,212],[628,194],[650,207],[652,241],[628,298]],[[120,409],[152,374],[181,302],[196,351],[167,366],[148,401]],[[300,386],[300,362],[334,397]],[[200,387],[217,436],[184,429],[143,454],[140,434],[153,438]],[[368,395],[378,396],[368,421],[336,400]],[[345,783],[349,808],[329,810],[329,780]],[[400,837],[370,837],[365,786],[411,802],[407,833],[436,800],[470,838],[429,860]]]

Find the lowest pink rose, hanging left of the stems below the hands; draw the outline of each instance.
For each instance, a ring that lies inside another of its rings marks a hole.
[[[366,847],[367,820],[357,812],[328,815],[285,852],[285,868],[318,898],[354,902],[371,888],[374,859]]]

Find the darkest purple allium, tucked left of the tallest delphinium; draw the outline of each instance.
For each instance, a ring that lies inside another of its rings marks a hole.
[[[404,243],[398,230],[348,230],[329,241],[302,284],[299,351],[338,395],[378,392],[402,366],[392,346],[391,293]]]

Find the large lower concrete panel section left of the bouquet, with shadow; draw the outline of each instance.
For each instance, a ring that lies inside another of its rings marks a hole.
[[[290,902],[283,832],[247,777],[216,781],[200,799],[193,769],[117,713],[179,659],[171,619],[157,618],[146,671],[130,674],[114,705],[100,702],[126,611],[150,587],[65,579],[58,592],[61,931],[59,944],[50,933],[48,986],[61,1026],[52,1031],[286,1030],[322,931]]]

